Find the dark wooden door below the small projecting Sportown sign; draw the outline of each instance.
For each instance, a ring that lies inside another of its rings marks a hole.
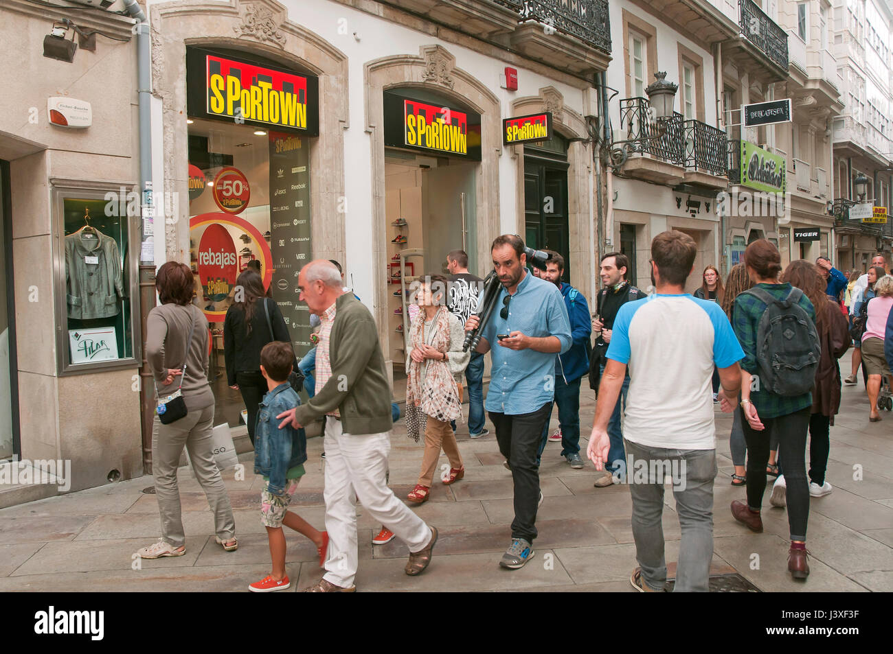
[[[571,280],[567,203],[567,141],[555,134],[524,146],[524,241],[564,257],[563,280]]]

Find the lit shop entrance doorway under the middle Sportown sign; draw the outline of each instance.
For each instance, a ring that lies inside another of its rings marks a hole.
[[[394,393],[405,398],[405,360],[415,315],[413,281],[447,273],[447,252],[468,253],[468,268],[481,276],[475,228],[475,173],[480,164],[454,157],[385,149],[388,229],[388,341]],[[405,278],[401,278],[405,274]]]

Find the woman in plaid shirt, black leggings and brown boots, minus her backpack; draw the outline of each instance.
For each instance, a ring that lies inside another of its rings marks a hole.
[[[796,289],[778,281],[781,272],[781,256],[778,248],[765,238],[747,245],[744,252],[747,274],[754,281],[754,290],[760,289],[772,296],[773,301],[786,301]],[[814,323],[813,303],[805,294],[799,294],[797,304]],[[767,304],[753,291],[739,294],[735,300],[732,327],[738,336],[745,358],[741,361],[741,426],[747,441],[747,502],[733,501],[731,513],[736,520],[752,531],[763,531],[760,511],[766,488],[766,463],[772,435],[778,435],[780,459],[784,461],[785,480],[772,489],[773,504],[776,491],[781,498],[787,492],[790,549],[788,570],[795,579],[809,575],[806,557],[806,526],[809,522],[809,485],[806,483],[805,449],[806,435],[813,405],[811,393],[780,395],[772,393],[765,384],[754,384],[759,374],[757,362],[757,335],[760,320]],[[785,500],[780,501],[784,505]]]

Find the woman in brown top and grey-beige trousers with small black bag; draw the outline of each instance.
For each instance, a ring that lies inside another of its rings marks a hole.
[[[188,413],[168,425],[162,425],[157,415],[154,417],[152,469],[162,537],[138,553],[143,559],[186,554],[177,486],[177,467],[184,445],[196,479],[211,505],[217,542],[224,550],[233,551],[238,547],[236,524],[212,451],[214,395],[207,377],[208,321],[192,304],[193,275],[187,265],[175,261],[165,263],[155,276],[155,288],[162,304],[149,311],[146,319],[146,360],[152,369],[158,397],[166,398],[179,387]]]

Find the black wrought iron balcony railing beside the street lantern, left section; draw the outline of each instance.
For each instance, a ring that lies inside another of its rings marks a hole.
[[[658,124],[649,118],[649,110],[650,103],[644,97],[628,97],[620,101],[620,121],[630,141],[630,152],[648,153],[677,166],[684,165],[685,129],[682,114],[673,112],[671,119]]]

